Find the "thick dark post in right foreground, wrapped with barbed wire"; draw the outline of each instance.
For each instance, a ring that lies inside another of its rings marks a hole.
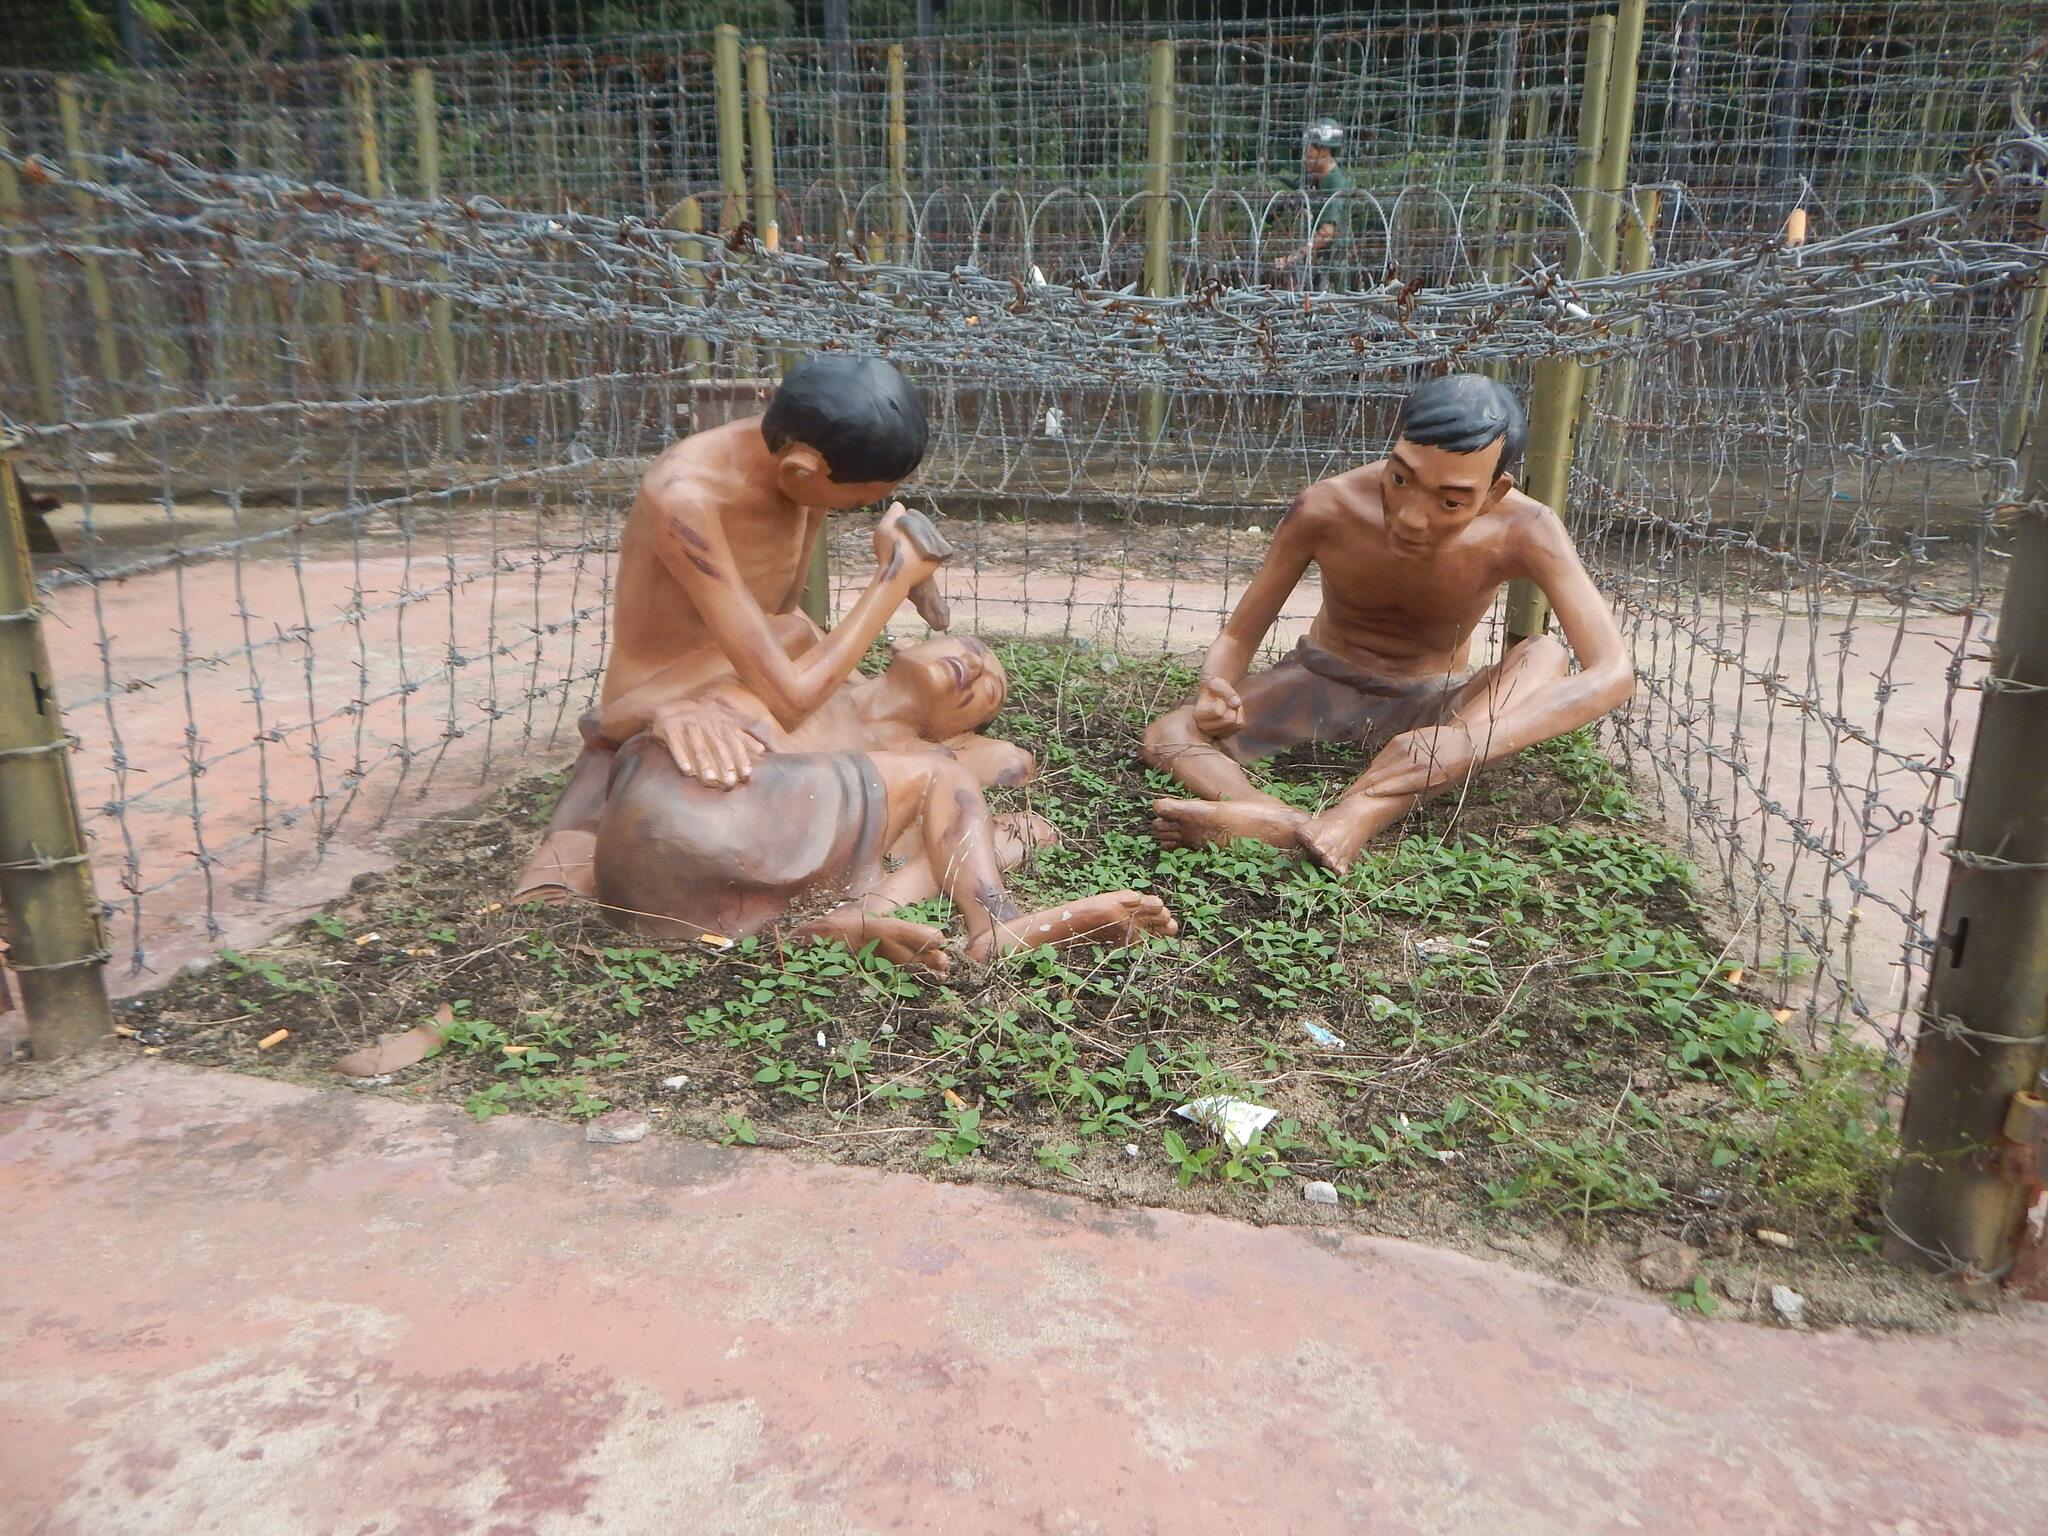
[[[2048,500],[2048,395],[2019,500]],[[2011,1266],[2048,1130],[2048,518],[2013,520],[1999,639],[1976,717],[1948,899],[1907,1106],[1884,1251],[1995,1280]]]

